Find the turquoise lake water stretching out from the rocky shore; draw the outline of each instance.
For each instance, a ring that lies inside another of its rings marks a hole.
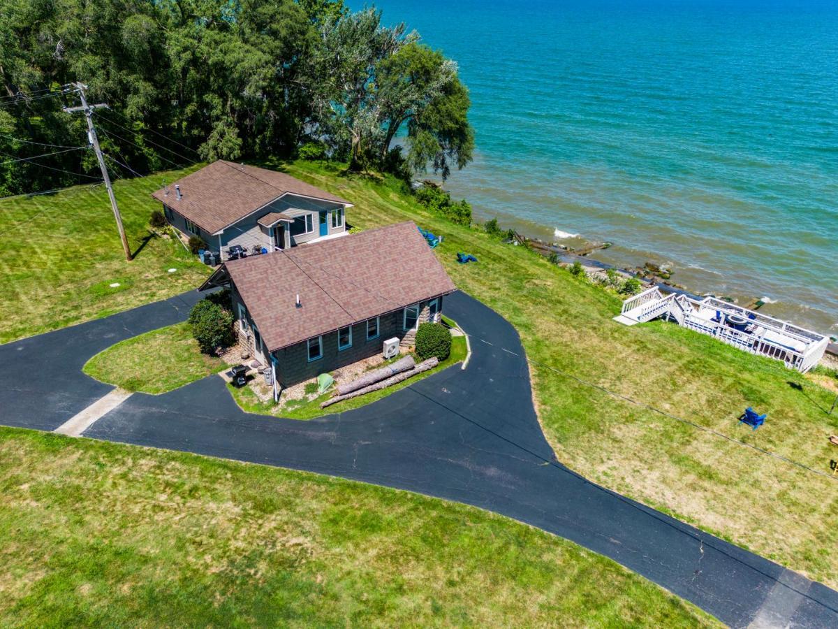
[[[838,3],[377,6],[459,63],[479,218],[838,334]]]

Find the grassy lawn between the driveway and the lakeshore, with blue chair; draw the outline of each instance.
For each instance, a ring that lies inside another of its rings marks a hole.
[[[352,200],[353,225],[414,218],[445,241],[436,251],[458,287],[509,319],[534,362],[541,423],[559,460],[606,486],[675,513],[793,569],[838,586],[838,479],[799,470],[587,387],[561,372],[829,472],[834,393],[779,362],[662,322],[624,327],[617,297],[520,247],[431,216],[389,180],[347,178],[332,166],[288,164]],[[459,265],[456,252],[476,255]],[[468,325],[468,322],[461,322]],[[556,371],[557,370],[557,371]],[[802,385],[803,391],[789,386]],[[768,413],[756,432],[746,406]]]

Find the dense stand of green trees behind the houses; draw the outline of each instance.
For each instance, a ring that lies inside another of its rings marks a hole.
[[[89,86],[116,174],[197,159],[289,156],[314,143],[350,168],[471,159],[457,66],[342,0],[4,0],[0,195],[98,179],[67,87]],[[391,148],[406,134],[404,150]],[[30,159],[43,153],[47,157]],[[17,161],[13,161],[17,160]]]

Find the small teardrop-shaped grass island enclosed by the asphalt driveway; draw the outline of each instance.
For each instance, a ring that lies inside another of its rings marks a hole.
[[[93,356],[84,371],[127,391],[163,393],[224,367],[220,358],[200,352],[184,322],[122,340]]]

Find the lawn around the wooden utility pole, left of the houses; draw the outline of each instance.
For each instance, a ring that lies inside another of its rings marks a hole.
[[[132,251],[116,232],[104,187],[0,200],[0,343],[106,316],[193,289],[208,268],[178,242],[153,237],[150,194],[171,174],[117,181],[116,199]],[[142,249],[140,249],[142,247]],[[177,268],[176,273],[168,273]],[[120,283],[111,289],[109,284]]]

